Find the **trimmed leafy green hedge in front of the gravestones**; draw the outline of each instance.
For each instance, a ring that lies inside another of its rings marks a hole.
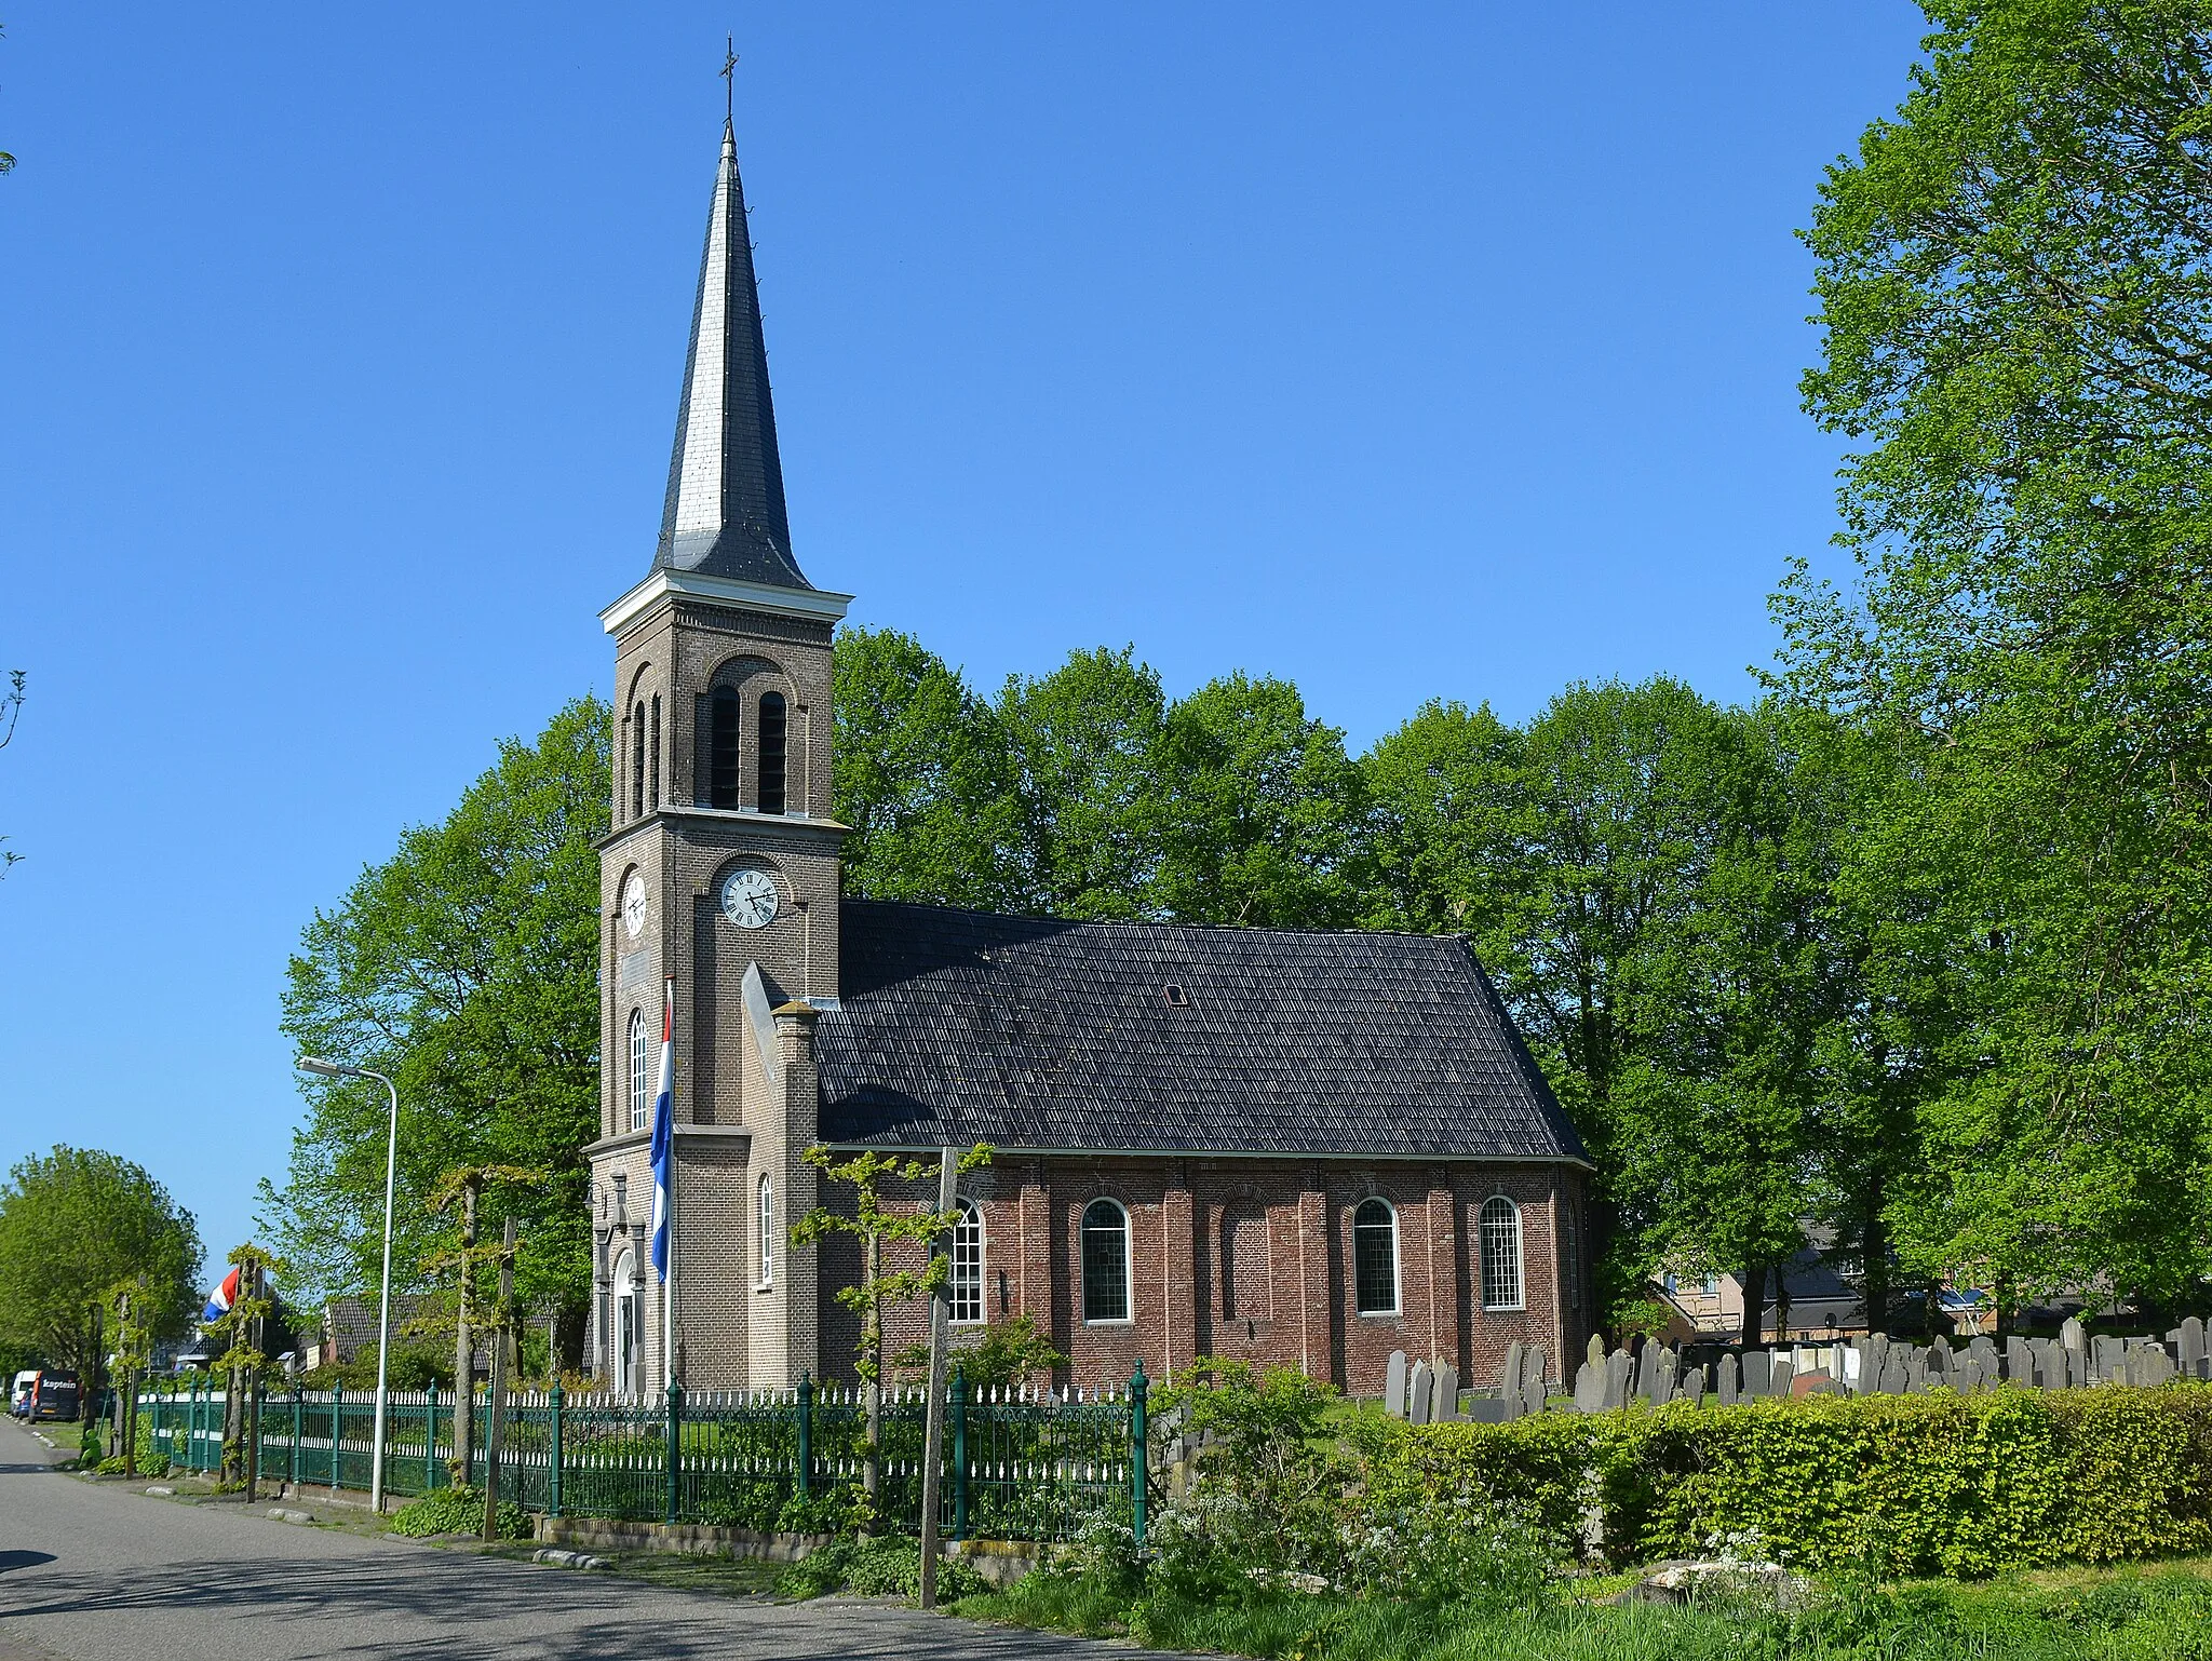
[[[2212,1550],[2212,1387],[1369,1420],[1369,1502],[1491,1493],[1610,1561],[1734,1546],[1807,1568],[1980,1577]]]

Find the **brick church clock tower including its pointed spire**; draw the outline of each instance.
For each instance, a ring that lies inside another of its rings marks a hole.
[[[785,1387],[816,1365],[812,1026],[836,1002],[830,637],[849,595],[792,557],[737,139],[723,124],[659,549],[615,637],[599,845],[593,1360],[617,1389]],[[672,1009],[672,1354],[650,1261]]]

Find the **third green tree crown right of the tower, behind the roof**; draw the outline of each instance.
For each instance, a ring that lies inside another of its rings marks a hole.
[[[1230,675],[1159,732],[1155,905],[1179,922],[1327,929],[1360,905],[1363,787],[1298,688]]]

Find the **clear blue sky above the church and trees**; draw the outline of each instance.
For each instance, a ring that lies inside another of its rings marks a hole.
[[[0,38],[0,1163],[281,1177],[316,907],[606,692],[723,35],[794,551],[973,683],[1133,644],[1754,694],[1838,440],[1794,230],[1924,22],[1823,7],[20,0]]]

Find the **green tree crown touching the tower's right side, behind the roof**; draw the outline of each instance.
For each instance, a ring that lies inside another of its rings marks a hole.
[[[1013,779],[991,706],[889,628],[838,633],[834,701],[847,894],[1020,907]]]

